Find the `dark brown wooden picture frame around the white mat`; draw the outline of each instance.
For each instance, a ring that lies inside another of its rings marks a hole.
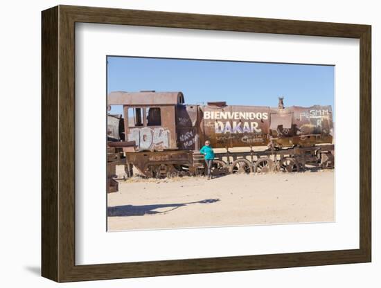
[[[75,24],[360,39],[360,249],[76,265]],[[371,262],[371,26],[56,6],[42,12],[42,276],[57,282]]]

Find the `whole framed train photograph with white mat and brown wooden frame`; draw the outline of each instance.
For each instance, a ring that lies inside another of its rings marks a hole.
[[[42,276],[371,262],[371,26],[42,12]]]

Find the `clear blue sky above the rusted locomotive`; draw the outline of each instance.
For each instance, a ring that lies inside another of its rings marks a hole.
[[[107,92],[181,91],[186,104],[227,101],[228,105],[334,104],[334,66],[107,57]],[[114,107],[111,113],[121,113]]]

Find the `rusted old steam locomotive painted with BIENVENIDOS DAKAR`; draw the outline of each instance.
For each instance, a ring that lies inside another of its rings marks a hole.
[[[278,107],[186,105],[181,92],[155,91],[112,92],[108,105],[123,105],[126,140],[109,145],[146,177],[203,173],[206,140],[217,151],[215,174],[334,165],[330,106],[284,107],[283,98]]]

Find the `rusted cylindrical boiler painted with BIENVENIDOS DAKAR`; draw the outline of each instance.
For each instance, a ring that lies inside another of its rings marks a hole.
[[[216,148],[267,145],[270,138],[280,147],[333,140],[330,106],[270,108],[213,103],[201,109],[203,141],[209,139]]]

